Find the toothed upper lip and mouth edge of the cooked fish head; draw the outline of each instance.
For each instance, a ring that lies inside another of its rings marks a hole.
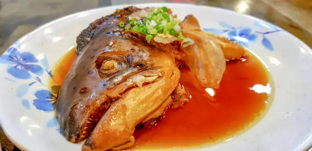
[[[112,88],[107,88],[105,92],[99,94],[89,92],[89,96],[82,99],[78,98],[77,103],[70,108],[71,111],[66,120],[63,120],[63,124],[61,124],[63,126],[61,128],[62,134],[71,142],[84,140],[90,135],[99,120],[114,102],[118,101],[124,94],[134,88],[143,88],[159,81],[162,78],[163,72],[160,69],[150,67],[132,74],[125,81],[114,84],[111,86]],[[88,101],[91,103],[87,103]],[[81,117],[81,115],[85,116],[83,118],[77,118]],[[62,117],[58,114],[57,118],[61,119]]]

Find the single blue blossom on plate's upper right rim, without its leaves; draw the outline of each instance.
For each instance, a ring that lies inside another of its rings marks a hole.
[[[227,35],[230,41],[236,42],[243,47],[248,47],[249,42],[254,43],[257,40],[257,35],[251,33],[251,29],[248,27],[231,30]]]

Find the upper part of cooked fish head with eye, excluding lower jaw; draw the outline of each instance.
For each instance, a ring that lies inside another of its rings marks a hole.
[[[101,33],[76,57],[59,92],[57,119],[62,134],[71,142],[86,138],[109,107],[129,90],[152,87],[168,78],[154,86],[161,90],[180,76],[172,54],[129,36]],[[170,96],[154,95],[164,94]]]

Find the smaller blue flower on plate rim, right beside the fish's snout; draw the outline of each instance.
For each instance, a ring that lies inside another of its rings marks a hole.
[[[37,109],[43,110],[43,111],[53,111],[55,109],[55,103],[56,103],[56,96],[53,95],[48,90],[38,90],[35,93],[35,96],[37,99],[34,99],[33,104],[36,106]]]

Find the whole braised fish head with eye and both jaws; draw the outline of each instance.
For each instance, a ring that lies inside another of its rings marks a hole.
[[[115,26],[137,10],[117,10],[118,15],[94,22],[77,39],[77,57],[56,103],[57,120],[71,142],[92,132],[87,150],[134,143],[136,125],[160,116],[178,84],[180,72],[172,54]]]

